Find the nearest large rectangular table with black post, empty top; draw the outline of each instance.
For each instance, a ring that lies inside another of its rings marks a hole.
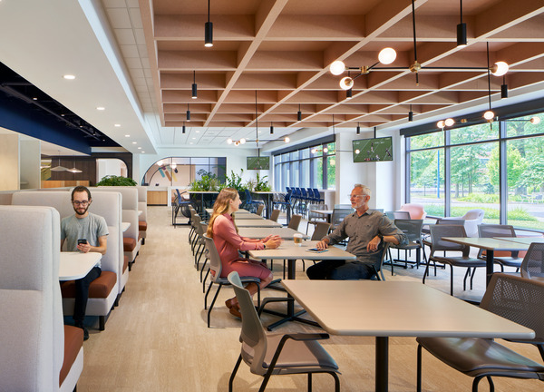
[[[420,282],[283,280],[332,335],[375,337],[375,390],[388,390],[389,337],[531,338],[534,331]]]

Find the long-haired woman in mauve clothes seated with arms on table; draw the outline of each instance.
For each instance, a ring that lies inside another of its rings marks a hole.
[[[272,271],[261,261],[241,258],[238,250],[276,249],[281,243],[281,238],[279,236],[267,236],[262,240],[251,240],[240,237],[232,214],[238,211],[241,203],[238,191],[232,188],[225,188],[220,191],[213,205],[213,213],[209,220],[206,235],[213,239],[218,249],[221,259],[222,278],[227,277],[230,272],[235,270],[240,277],[260,279],[259,286],[263,289],[272,281]],[[257,292],[257,283],[248,283],[246,289],[253,296]],[[225,305],[227,305],[232,315],[241,319],[236,297],[227,299]]]

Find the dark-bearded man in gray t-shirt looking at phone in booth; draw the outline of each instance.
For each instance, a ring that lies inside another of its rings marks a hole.
[[[72,206],[75,214],[61,220],[61,249],[66,240],[67,251],[98,252],[106,254],[108,225],[101,216],[89,212],[91,191],[84,186],[77,186],[72,191]],[[85,240],[85,241],[83,241]],[[89,331],[83,325],[85,309],[89,299],[89,285],[100,274],[100,260],[82,279],[75,280],[75,303],[73,306],[74,325],[83,329],[84,339],[89,338]]]

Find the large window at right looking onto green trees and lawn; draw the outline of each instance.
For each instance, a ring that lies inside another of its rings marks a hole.
[[[544,119],[543,115],[538,115]],[[432,216],[544,230],[544,123],[529,117],[406,138],[406,199]]]

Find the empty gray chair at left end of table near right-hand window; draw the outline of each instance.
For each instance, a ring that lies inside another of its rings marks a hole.
[[[425,278],[429,272],[429,266],[431,261],[448,264],[450,266],[450,294],[453,295],[453,267],[465,267],[467,271],[463,279],[463,289],[467,289],[467,278],[471,276],[471,289],[472,279],[474,278],[474,270],[478,267],[485,267],[486,262],[481,259],[471,258],[469,253],[471,247],[468,245],[456,244],[450,241],[442,240],[442,237],[466,237],[467,234],[462,226],[459,225],[434,225],[431,226],[431,254],[429,255],[429,262],[425,267],[425,273],[423,273],[423,284],[425,284]],[[460,251],[462,256],[436,256],[437,251]],[[471,269],[472,272],[471,272]]]

